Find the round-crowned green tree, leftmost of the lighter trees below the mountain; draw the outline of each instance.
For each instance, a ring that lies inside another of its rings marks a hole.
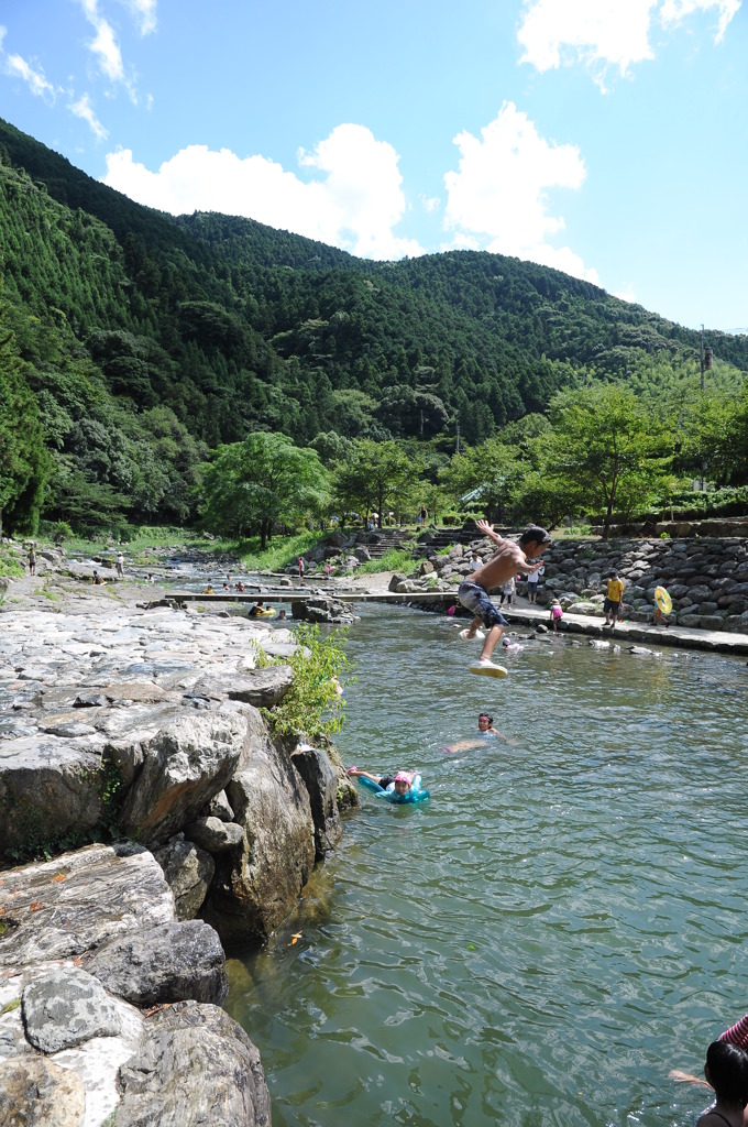
[[[259,532],[260,550],[276,525],[293,524],[329,500],[328,473],[314,450],[283,434],[250,434],[220,446],[203,479],[203,521],[230,535]]]

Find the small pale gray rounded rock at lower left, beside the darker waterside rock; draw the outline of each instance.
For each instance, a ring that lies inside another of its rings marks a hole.
[[[39,1053],[59,1053],[92,1037],[116,1037],[117,1008],[101,984],[78,967],[60,967],[21,995],[26,1038]]]

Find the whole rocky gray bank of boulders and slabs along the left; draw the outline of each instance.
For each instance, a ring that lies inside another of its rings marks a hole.
[[[0,1122],[269,1124],[224,946],[283,920],[355,802],[259,712],[294,638],[45,557],[0,606]]]

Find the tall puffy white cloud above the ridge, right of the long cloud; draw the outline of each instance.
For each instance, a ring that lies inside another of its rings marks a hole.
[[[546,189],[576,190],[587,176],[576,145],[549,143],[511,101],[481,130],[480,139],[463,132],[454,143],[461,157],[458,170],[444,177],[444,225],[456,231],[455,246],[478,237],[486,250],[531,258],[597,282],[578,255],[547,242],[564,222],[549,211]]]

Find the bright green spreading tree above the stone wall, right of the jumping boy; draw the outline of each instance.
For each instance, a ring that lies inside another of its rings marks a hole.
[[[614,384],[563,391],[550,418],[549,483],[573,497],[577,512],[604,512],[605,536],[615,509],[645,509],[664,488],[673,435],[632,391]]]

